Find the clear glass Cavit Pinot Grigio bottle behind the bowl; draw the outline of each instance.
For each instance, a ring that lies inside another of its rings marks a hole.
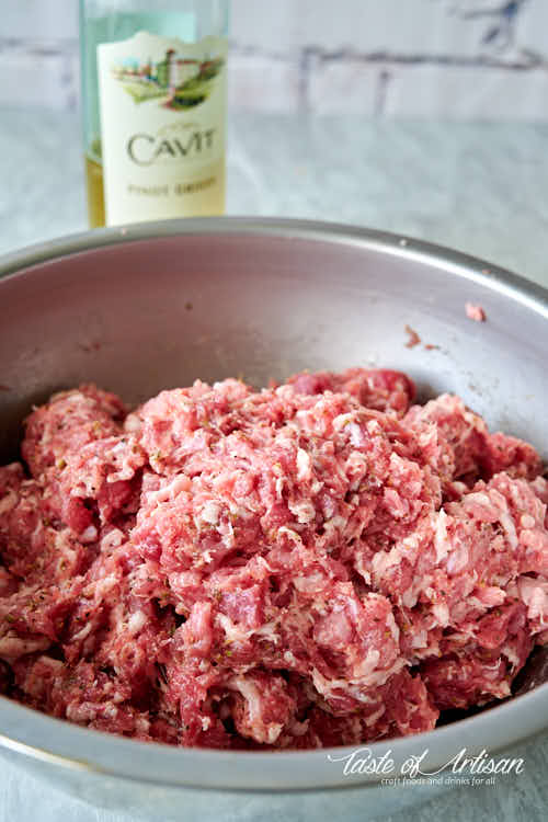
[[[90,226],[225,210],[228,0],[80,0]]]

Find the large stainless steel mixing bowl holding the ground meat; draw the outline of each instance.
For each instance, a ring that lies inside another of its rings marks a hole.
[[[243,374],[264,385],[350,365],[407,370],[424,396],[455,391],[548,456],[548,294],[446,249],[295,220],[174,220],[35,247],[4,258],[0,274],[9,275],[0,281],[1,461],[15,456],[32,403],[82,380],[135,403],[196,377]],[[467,300],[483,306],[487,322],[466,317]],[[407,346],[406,327],[420,344]],[[422,768],[434,770],[465,746],[494,753],[547,727],[548,684],[539,684],[427,734],[368,747],[375,757],[390,750],[396,768],[427,749]],[[327,751],[172,749],[5,698],[0,733],[2,755],[35,774],[162,822],[232,812],[308,819],[341,807],[346,819],[364,819],[425,795],[381,787],[378,774],[344,775]]]

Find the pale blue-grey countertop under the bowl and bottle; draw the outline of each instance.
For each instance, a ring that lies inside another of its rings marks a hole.
[[[79,125],[73,112],[0,109],[0,253],[87,229]],[[546,125],[239,112],[229,136],[228,214],[396,231],[482,256],[548,286]],[[501,777],[494,787],[453,788],[420,810],[385,820],[540,822],[548,814],[548,738],[529,743],[521,755],[520,776]],[[2,763],[0,822],[36,819],[130,822]]]

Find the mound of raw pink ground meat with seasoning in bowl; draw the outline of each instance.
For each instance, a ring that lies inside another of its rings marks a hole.
[[[548,640],[527,443],[403,374],[226,379],[127,413],[94,386],[0,468],[0,687],[228,749],[355,744],[511,693]]]

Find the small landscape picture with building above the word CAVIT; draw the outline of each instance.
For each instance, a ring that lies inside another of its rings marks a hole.
[[[162,107],[181,111],[207,100],[224,64],[221,57],[198,60],[169,48],[158,62],[127,57],[111,72],[135,103],[158,99]]]

